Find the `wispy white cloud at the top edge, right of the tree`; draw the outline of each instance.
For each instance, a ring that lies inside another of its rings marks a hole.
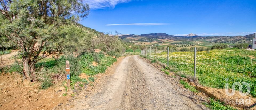
[[[83,0],[84,3],[88,3],[90,9],[104,9],[115,8],[115,5],[119,3],[127,3],[131,0]]]

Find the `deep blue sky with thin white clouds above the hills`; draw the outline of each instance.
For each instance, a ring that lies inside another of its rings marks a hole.
[[[184,36],[256,32],[255,0],[84,0],[91,10],[84,26],[121,34]]]

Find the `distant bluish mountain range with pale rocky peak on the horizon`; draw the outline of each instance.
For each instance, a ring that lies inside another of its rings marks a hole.
[[[219,42],[219,43],[239,43],[248,42],[255,37],[254,34],[249,34],[246,36],[198,36],[196,34],[188,34],[187,36],[173,36],[166,33],[151,33],[151,34],[141,34],[141,35],[123,35],[119,36],[121,39],[125,38],[136,38],[136,39],[170,39],[170,40],[199,40],[204,39],[208,42]]]

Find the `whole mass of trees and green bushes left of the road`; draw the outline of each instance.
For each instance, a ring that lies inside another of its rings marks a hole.
[[[0,13],[0,55],[19,51],[15,63],[0,67],[0,72],[42,82],[41,89],[66,78],[66,60],[71,88],[77,82],[82,87],[94,82],[94,76],[104,73],[127,49],[140,52],[140,46],[122,41],[118,32],[102,33],[79,24],[89,14],[88,4],[81,1],[25,0],[1,2],[1,6],[8,10]],[[89,79],[81,79],[81,73]]]

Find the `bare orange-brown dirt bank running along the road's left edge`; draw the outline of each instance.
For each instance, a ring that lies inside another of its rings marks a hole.
[[[122,58],[118,58],[111,67],[118,64]],[[97,74],[94,85],[97,85],[105,78],[105,74]],[[88,78],[82,74],[81,77]],[[1,74],[0,77],[0,109],[20,110],[20,109],[55,109],[72,102],[77,95],[90,92],[94,86],[86,85],[83,88],[75,86],[75,90],[66,89],[64,81],[59,81],[49,89],[41,90],[40,82],[23,82],[23,76],[17,73]],[[82,89],[79,90],[78,88]],[[65,94],[66,96],[63,96]],[[71,105],[72,106],[72,105]]]

